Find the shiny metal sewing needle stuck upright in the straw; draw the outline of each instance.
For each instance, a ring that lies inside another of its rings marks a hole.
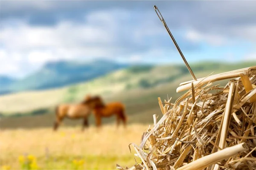
[[[185,62],[186,67],[189,69],[189,72],[190,72],[191,76],[193,77],[193,79],[194,79],[195,81],[197,81],[197,79],[196,79],[196,77],[195,77],[195,74],[193,73],[193,71],[191,70],[191,68],[190,68],[190,66],[189,66],[189,64],[188,64],[188,62],[186,61],[185,57],[183,56],[183,54],[182,54],[182,52],[181,52],[179,46],[177,45],[177,42],[175,41],[174,37],[172,36],[172,33],[171,33],[171,31],[169,30],[168,26],[166,25],[166,22],[165,22],[165,20],[163,19],[163,16],[162,16],[162,14],[160,13],[160,11],[159,11],[159,9],[157,8],[157,6],[154,6],[154,10],[156,11],[157,16],[159,17],[159,19],[160,19],[161,22],[163,23],[163,26],[166,28],[167,32],[169,33],[170,37],[172,38],[172,42],[174,43],[174,45],[176,46],[177,50],[179,51],[180,56],[181,56],[181,58],[183,59],[183,61]],[[158,13],[159,13],[160,15],[159,15]]]

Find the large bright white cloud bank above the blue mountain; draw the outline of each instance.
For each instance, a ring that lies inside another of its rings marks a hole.
[[[31,26],[24,21],[7,22],[1,30],[0,50],[4,57],[0,59],[9,67],[0,68],[0,73],[23,76],[47,61],[114,59],[137,54],[142,50],[140,45],[145,45],[143,37],[159,32],[152,31],[154,28],[145,31],[141,28],[143,23],[130,25],[132,29],[124,27],[124,19],[130,17],[127,11],[97,11],[80,23],[66,20],[55,26]],[[130,59],[135,61],[139,57]]]

